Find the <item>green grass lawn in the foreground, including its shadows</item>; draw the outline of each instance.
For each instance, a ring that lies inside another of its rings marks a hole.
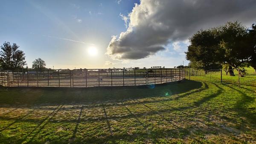
[[[256,86],[0,88],[0,143],[256,143]]]

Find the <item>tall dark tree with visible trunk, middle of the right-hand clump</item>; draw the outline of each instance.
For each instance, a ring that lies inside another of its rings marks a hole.
[[[219,49],[221,51],[221,63],[228,63],[230,75],[234,75],[232,68],[239,68],[248,62],[249,53],[247,37],[247,28],[237,21],[227,22],[220,27]]]

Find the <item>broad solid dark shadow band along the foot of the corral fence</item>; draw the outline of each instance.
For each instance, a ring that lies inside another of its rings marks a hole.
[[[1,87],[0,105],[90,104],[104,101],[175,95],[201,88],[201,86],[201,82],[184,80],[155,86],[90,88]]]

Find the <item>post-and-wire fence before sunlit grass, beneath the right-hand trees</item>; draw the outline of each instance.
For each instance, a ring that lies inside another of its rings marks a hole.
[[[233,70],[234,75],[230,75],[230,70]],[[239,75],[240,74],[240,75]],[[254,69],[210,69],[196,70],[186,69],[186,78],[199,77],[204,80],[219,81],[224,83],[232,83],[247,86],[256,86],[256,71]]]

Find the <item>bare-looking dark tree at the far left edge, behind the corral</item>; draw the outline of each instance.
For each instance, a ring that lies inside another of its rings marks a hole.
[[[0,58],[2,67],[5,70],[16,70],[26,64],[25,54],[18,50],[19,46],[16,43],[12,45],[9,42],[4,42],[1,46]]]

